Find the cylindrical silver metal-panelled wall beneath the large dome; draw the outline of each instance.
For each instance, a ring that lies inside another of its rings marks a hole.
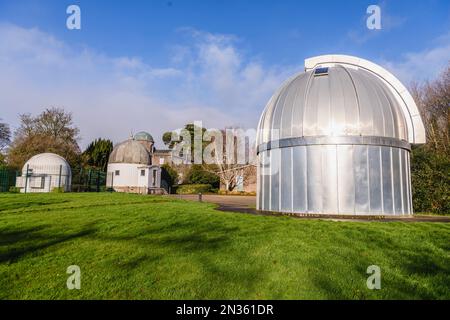
[[[258,155],[257,208],[349,215],[409,215],[409,151],[376,145],[306,145]]]

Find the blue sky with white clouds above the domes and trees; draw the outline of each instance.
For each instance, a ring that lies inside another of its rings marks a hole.
[[[70,4],[81,30],[65,27]],[[381,30],[366,28],[370,4]],[[432,79],[450,59],[450,1],[0,0],[0,117],[63,106],[82,145],[193,120],[254,127],[281,82],[328,53]]]

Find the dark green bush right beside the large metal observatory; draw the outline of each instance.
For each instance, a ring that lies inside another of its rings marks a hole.
[[[411,153],[415,212],[450,214],[450,158],[421,146]]]

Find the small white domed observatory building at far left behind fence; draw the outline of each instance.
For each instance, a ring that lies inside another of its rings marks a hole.
[[[54,153],[41,153],[28,160],[16,187],[23,193],[51,192],[55,188],[70,191],[72,171],[67,161]]]

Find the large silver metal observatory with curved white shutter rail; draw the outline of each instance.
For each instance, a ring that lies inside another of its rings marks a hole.
[[[367,60],[307,59],[258,125],[257,208],[412,214],[409,153],[425,130],[406,88]]]

